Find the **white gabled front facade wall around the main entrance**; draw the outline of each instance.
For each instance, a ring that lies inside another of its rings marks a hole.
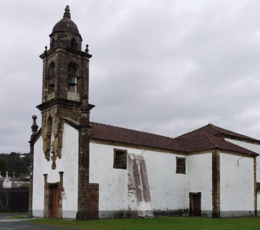
[[[51,141],[53,136],[51,137]],[[64,124],[62,134],[62,157],[56,160],[56,169],[51,169],[52,160],[47,161],[42,151],[42,137],[34,144],[34,180],[33,180],[33,215],[43,216],[44,177],[48,174],[47,183],[60,181],[59,172],[63,174],[63,187],[66,198],[62,199],[62,217],[76,218],[78,186],[78,131]],[[50,154],[52,155],[52,154]]]

